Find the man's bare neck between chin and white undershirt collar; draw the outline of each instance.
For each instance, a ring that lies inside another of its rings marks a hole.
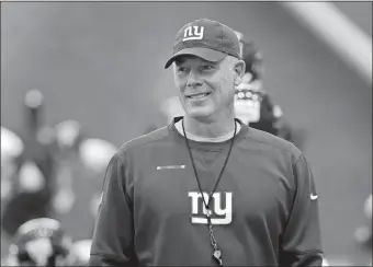
[[[197,119],[184,116],[185,131],[203,138],[216,138],[230,134],[235,130],[235,114],[219,117],[216,120]]]

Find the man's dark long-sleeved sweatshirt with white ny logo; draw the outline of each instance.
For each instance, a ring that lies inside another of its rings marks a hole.
[[[229,142],[191,146],[208,193]],[[173,124],[123,146],[105,179],[91,264],[214,266],[197,184]],[[316,194],[293,144],[242,124],[213,202],[225,265],[320,265]]]

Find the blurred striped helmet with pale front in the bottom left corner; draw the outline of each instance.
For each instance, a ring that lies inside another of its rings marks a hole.
[[[71,241],[60,223],[49,218],[22,224],[4,260],[8,266],[65,266]]]

